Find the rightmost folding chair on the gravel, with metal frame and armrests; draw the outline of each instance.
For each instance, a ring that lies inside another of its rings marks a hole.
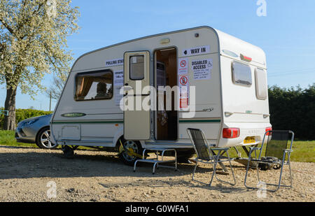
[[[291,134],[291,138],[290,138],[290,134]],[[265,133],[263,140],[262,140],[261,147],[250,147],[251,150],[249,152],[244,185],[250,189],[261,189],[258,187],[248,187],[246,185],[248,168],[250,166],[249,164],[251,161],[253,161],[253,162],[255,162],[255,168],[257,170],[258,182],[265,184],[265,185],[276,186],[275,190],[271,190],[271,189],[264,189],[264,190],[267,190],[269,192],[276,192],[281,186],[282,187],[292,187],[292,172],[291,172],[291,166],[290,166],[290,154],[293,152],[293,150],[292,150],[293,140],[294,140],[293,131],[267,131]],[[290,148],[289,149],[287,149],[288,141],[290,141]],[[266,147],[265,157],[262,158],[261,155],[262,155],[262,150],[263,150],[265,143],[267,143],[267,147]],[[257,151],[260,151],[258,158],[257,158]],[[255,159],[253,159],[251,157],[252,152],[255,152]],[[286,157],[287,157],[287,161],[286,161]],[[281,168],[278,184],[260,182],[258,166],[261,166],[264,164],[266,166],[272,166],[275,169]],[[289,166],[290,185],[281,185],[281,178],[282,178],[282,172],[283,172],[283,166],[284,165]]]

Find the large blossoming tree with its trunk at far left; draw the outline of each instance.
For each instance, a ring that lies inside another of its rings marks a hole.
[[[0,84],[6,84],[3,129],[15,129],[15,96],[20,87],[32,98],[43,91],[45,73],[69,71],[66,37],[78,30],[71,0],[0,1]]]

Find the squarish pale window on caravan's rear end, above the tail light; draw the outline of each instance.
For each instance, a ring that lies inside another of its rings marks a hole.
[[[247,64],[233,62],[232,79],[237,85],[251,86],[253,83],[251,78],[251,67]]]

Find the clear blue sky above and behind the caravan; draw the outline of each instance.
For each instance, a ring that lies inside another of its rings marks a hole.
[[[265,50],[269,85],[308,87],[315,82],[315,1],[265,1],[267,16],[258,17],[258,0],[73,0],[80,7],[80,30],[69,36],[69,50],[76,59],[133,38],[208,25]],[[43,85],[50,82],[46,75]],[[0,85],[0,106],[5,99]],[[32,101],[18,91],[16,101],[17,108],[49,109],[49,99],[41,93]]]

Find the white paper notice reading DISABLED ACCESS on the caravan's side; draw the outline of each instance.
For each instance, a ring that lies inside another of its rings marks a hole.
[[[213,59],[200,59],[192,61],[191,70],[194,74],[194,80],[210,80],[213,64]]]

